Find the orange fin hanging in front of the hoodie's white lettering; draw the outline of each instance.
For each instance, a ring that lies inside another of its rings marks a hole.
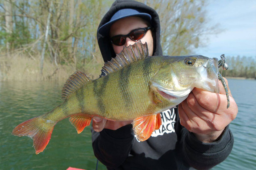
[[[159,129],[160,125],[160,115],[149,115],[139,117],[134,119],[132,123],[134,133],[137,139],[140,141],[147,140],[151,136],[152,132],[156,130],[156,128]]]

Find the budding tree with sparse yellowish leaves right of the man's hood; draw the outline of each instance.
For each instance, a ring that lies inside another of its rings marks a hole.
[[[164,55],[191,54],[206,44],[205,35],[220,32],[216,25],[207,25],[204,1],[147,0],[146,3],[159,14]]]

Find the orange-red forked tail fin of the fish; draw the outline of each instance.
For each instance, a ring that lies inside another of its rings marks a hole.
[[[28,136],[33,139],[35,153],[43,152],[49,143],[54,128],[53,121],[45,121],[41,116],[34,117],[16,126],[12,132],[15,136]]]

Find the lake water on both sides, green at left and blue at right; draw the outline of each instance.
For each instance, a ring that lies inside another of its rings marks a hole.
[[[256,81],[228,79],[239,112],[230,128],[235,138],[230,156],[213,169],[256,169]],[[47,113],[60,104],[63,84],[0,82],[0,169],[95,169],[90,128],[77,134],[68,119],[57,123],[43,152],[33,141],[11,134],[19,123]],[[98,169],[106,169],[99,163]]]

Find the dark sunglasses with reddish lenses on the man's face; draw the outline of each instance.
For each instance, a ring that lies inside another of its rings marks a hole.
[[[138,29],[132,30],[130,33],[128,33],[126,35],[115,35],[115,36],[111,37],[110,40],[111,40],[112,44],[114,44],[116,46],[122,46],[125,44],[127,37],[129,37],[133,41],[138,41],[144,37],[147,30],[149,30],[149,29],[150,29],[150,27],[138,28]]]

